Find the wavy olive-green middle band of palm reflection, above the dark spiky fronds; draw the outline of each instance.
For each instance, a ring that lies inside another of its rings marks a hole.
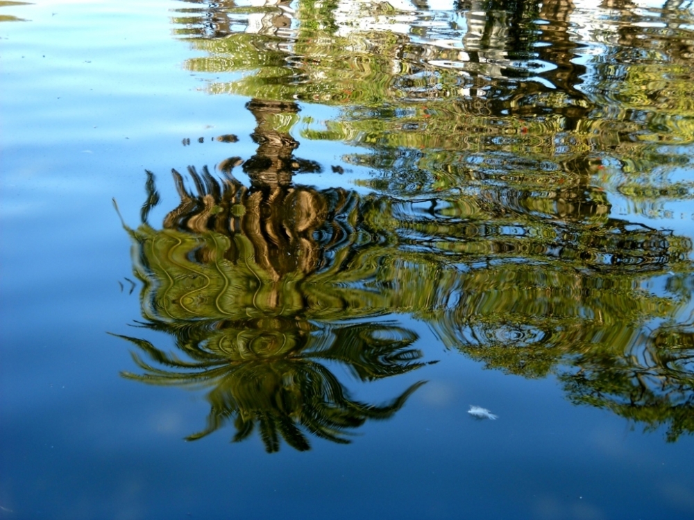
[[[249,197],[241,216],[232,218],[242,220],[248,234],[189,234],[176,229],[157,231],[147,225],[133,232],[141,262],[137,275],[146,281],[146,318],[242,320],[302,315],[310,320],[335,320],[372,315],[374,309],[380,313],[387,307],[383,295],[348,287],[375,271],[370,250],[356,252],[357,258],[350,259],[355,264],[351,271],[340,270],[335,262],[325,270],[306,273],[305,262],[312,260],[315,246],[310,242],[305,246],[307,241],[299,235],[296,249],[281,252],[291,258],[269,254],[273,248],[264,240],[260,224],[253,221],[255,200]],[[290,198],[288,205],[292,202]],[[215,216],[221,220],[225,215],[219,206]],[[344,256],[348,251],[340,253]]]

